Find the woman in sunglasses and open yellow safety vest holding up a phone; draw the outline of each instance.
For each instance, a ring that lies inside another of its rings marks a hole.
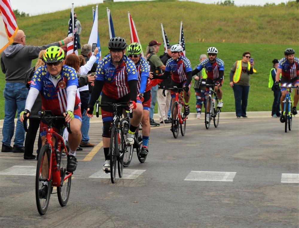
[[[229,85],[234,90],[237,118],[247,118],[246,108],[249,93],[250,75],[253,74],[254,62],[250,63],[250,52],[243,53],[243,59],[234,63],[229,75]],[[242,104],[241,104],[242,102]]]

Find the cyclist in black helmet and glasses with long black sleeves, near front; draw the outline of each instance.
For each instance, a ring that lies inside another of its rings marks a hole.
[[[129,109],[133,111],[133,118],[126,135],[126,144],[134,144],[134,133],[142,119],[142,102],[137,96],[138,74],[135,64],[126,55],[126,41],[121,37],[109,40],[110,54],[105,56],[98,64],[94,89],[91,93],[87,108],[87,116],[93,117],[94,104],[102,92],[101,102],[132,102]],[[112,107],[101,107],[103,120],[103,148],[105,163],[103,170],[110,171],[110,125],[113,117]]]

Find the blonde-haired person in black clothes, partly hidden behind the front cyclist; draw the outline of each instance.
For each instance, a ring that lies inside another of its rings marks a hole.
[[[43,61],[43,55],[45,53],[45,50],[41,50],[39,52],[39,59],[37,60],[34,67],[29,69],[26,73],[25,77],[25,84],[26,87],[29,89],[32,77],[35,73],[35,70],[41,66],[45,66],[45,62]],[[42,110],[42,97],[39,94],[32,106],[31,109],[31,115],[36,116],[39,111]],[[37,130],[39,129],[40,120],[33,120],[29,119],[29,127],[28,132],[26,134],[25,138],[25,152],[24,152],[24,159],[35,159],[36,156],[33,155],[33,148],[34,148],[34,142],[37,134]],[[42,147],[42,140],[40,136],[38,137],[38,143],[37,143],[37,154],[39,153],[40,148]]]

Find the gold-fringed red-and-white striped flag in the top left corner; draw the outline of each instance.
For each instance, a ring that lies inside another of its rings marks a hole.
[[[0,53],[7,48],[19,30],[9,0],[0,0]]]

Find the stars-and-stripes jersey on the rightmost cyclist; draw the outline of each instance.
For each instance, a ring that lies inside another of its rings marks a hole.
[[[299,75],[299,59],[294,58],[293,63],[289,63],[286,58],[282,58],[278,62],[277,68],[281,69],[281,76],[286,79],[292,79]]]

